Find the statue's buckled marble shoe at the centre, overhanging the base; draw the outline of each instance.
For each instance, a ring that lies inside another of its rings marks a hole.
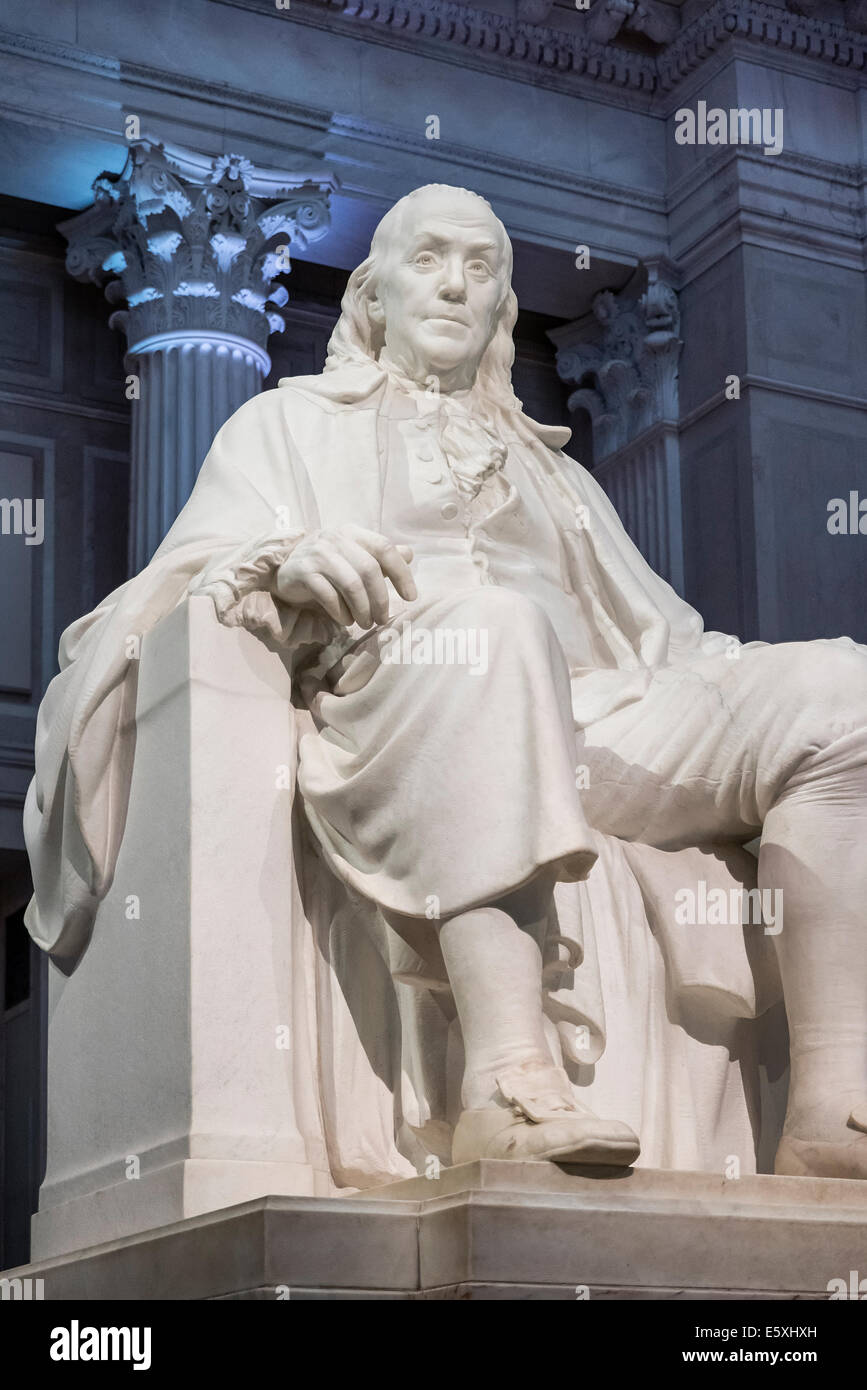
[[[452,1162],[479,1158],[554,1159],[628,1168],[638,1138],[618,1120],[602,1120],[572,1095],[557,1066],[511,1068],[497,1076],[502,1102],[464,1111],[452,1140]]]

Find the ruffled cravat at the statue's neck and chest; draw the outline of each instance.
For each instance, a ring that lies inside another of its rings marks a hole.
[[[413,396],[420,417],[436,418],[439,445],[461,496],[471,502],[489,480],[492,486],[486,491],[506,496],[509,485],[499,475],[509,450],[495,432],[493,420],[479,393],[474,389],[452,393],[425,391],[417,381],[406,377],[385,352],[379,354],[379,366],[396,385]]]

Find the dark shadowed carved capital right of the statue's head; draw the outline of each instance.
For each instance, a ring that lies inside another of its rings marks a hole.
[[[592,318],[549,334],[561,379],[578,388],[568,409],[591,416],[596,463],[652,425],[677,421],[679,327],[675,291],[650,271],[639,297],[602,291]]]

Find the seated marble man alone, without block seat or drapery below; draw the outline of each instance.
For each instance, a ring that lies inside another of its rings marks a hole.
[[[290,663],[321,872],[445,972],[453,1162],[636,1159],[634,1126],[595,1113],[552,1049],[554,892],[599,872],[600,835],[675,852],[761,835],[759,887],[786,909],[775,1170],[867,1177],[867,651],[704,632],[560,453],[568,431],[521,410],[515,317],[482,197],[429,185],[382,218],[325,371],[232,417],[150,566],[64,634],[28,926],[75,963],[124,826],[124,635],[206,594]]]

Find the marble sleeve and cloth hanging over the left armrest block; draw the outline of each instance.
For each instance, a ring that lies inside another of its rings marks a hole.
[[[24,808],[33,940],[69,973],[108,892],[126,821],[143,637],[192,594],[221,621],[288,646],[328,644],[331,620],[292,610],[271,577],[310,524],[288,392],[265,392],[222,427],[193,493],[150,564],[63,634],[60,673],[36,721]]]

